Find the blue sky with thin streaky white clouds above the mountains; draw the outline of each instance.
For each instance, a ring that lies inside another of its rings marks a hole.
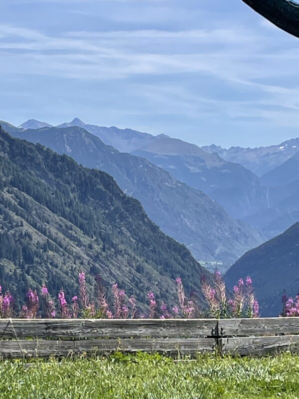
[[[0,0],[0,120],[197,145],[299,136],[299,40],[241,0]]]

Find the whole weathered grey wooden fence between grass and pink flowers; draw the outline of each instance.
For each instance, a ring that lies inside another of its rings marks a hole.
[[[0,357],[111,352],[261,355],[299,351],[299,318],[0,319]]]

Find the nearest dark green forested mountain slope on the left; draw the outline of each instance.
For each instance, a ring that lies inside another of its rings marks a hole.
[[[202,298],[207,272],[151,222],[111,176],[0,129],[0,281],[18,301],[47,282],[71,296],[80,270],[117,281],[141,304],[176,302],[175,281]]]

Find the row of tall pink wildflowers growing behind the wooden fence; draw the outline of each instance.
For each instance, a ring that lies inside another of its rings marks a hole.
[[[111,303],[108,301],[106,288],[100,276],[96,276],[95,300],[90,300],[88,294],[86,276],[83,271],[79,273],[79,293],[67,302],[65,292],[61,289],[56,300],[49,294],[45,284],[42,285],[40,295],[36,290],[29,289],[26,294],[26,302],[22,306],[19,317],[34,319],[37,317],[63,319],[70,318],[106,318],[106,319],[128,319],[128,318],[201,318],[201,317],[258,317],[259,305],[254,296],[252,281],[247,277],[245,283],[242,279],[234,286],[233,297],[228,299],[225,283],[220,272],[216,271],[213,284],[207,278],[202,277],[201,288],[206,302],[209,306],[208,314],[203,313],[198,305],[198,297],[191,292],[187,297],[181,278],[176,278],[178,305],[169,307],[163,301],[158,301],[152,291],[147,295],[148,312],[141,313],[137,307],[136,298],[128,297],[125,290],[119,288],[115,283],[111,287]],[[286,300],[285,308],[287,315],[293,315],[294,309],[299,309],[299,296],[296,306],[291,306],[292,299]],[[56,304],[56,305],[55,305]],[[292,303],[293,304],[293,303]],[[298,306],[297,306],[298,304]],[[13,299],[7,291],[2,294],[0,286],[0,318],[8,318],[13,315]],[[299,315],[299,310],[298,310]]]

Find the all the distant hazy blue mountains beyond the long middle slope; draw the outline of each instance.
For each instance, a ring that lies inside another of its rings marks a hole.
[[[132,154],[148,159],[177,180],[205,192],[233,218],[261,229],[268,238],[298,220],[297,189],[290,185],[286,187],[286,184],[291,182],[294,186],[296,179],[299,179],[299,139],[269,147],[231,147],[226,150],[215,145],[199,148],[168,136],[154,137],[130,129],[124,133],[124,130],[117,128],[100,128],[86,125],[78,119],[70,124],[84,126],[87,130],[100,129],[103,141],[113,142],[116,148],[124,146],[125,134],[127,150],[142,145],[132,150]],[[258,175],[272,170],[258,178],[250,169]]]

